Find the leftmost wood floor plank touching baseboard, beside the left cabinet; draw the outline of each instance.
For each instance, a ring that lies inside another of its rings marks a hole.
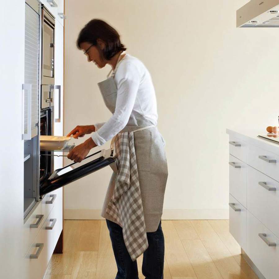
[[[76,252],[83,220],[64,220],[64,252]]]

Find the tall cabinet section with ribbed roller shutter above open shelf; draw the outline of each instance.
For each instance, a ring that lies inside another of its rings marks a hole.
[[[38,201],[40,5],[25,3],[24,43],[24,217]],[[36,200],[37,197],[37,200]]]

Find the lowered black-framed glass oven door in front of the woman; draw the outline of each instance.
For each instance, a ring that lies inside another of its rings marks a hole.
[[[99,153],[99,157],[97,156],[96,158],[97,153]],[[55,170],[48,178],[40,183],[40,197],[100,170],[105,166],[111,166],[113,171],[117,172],[115,157],[110,156],[110,149],[103,149],[97,153],[87,156],[80,163],[72,163],[61,169]]]

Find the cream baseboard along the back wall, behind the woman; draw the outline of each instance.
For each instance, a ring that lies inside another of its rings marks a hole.
[[[64,219],[104,220],[100,209],[64,209]],[[224,220],[228,209],[165,209],[162,220]]]

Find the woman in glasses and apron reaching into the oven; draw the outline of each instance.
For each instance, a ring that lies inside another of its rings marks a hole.
[[[125,53],[119,34],[103,20],[93,19],[80,31],[77,47],[98,68],[112,67],[112,76],[99,82],[107,122],[77,126],[74,138],[91,134],[68,154],[81,162],[91,148],[111,141],[117,161],[104,200],[106,219],[117,264],[117,279],[138,278],[136,258],[143,253],[142,273],[163,278],[162,207],[168,176],[165,141],[157,129],[157,101],[148,69]],[[136,246],[136,249],[134,249]]]

